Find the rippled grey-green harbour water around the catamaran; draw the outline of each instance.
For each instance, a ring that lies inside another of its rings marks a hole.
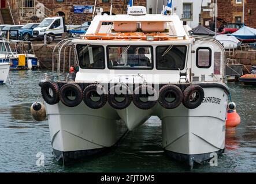
[[[29,111],[38,97],[42,101],[38,82],[44,72],[11,71],[12,84],[0,86],[0,172],[256,172],[256,87],[239,83],[229,87],[242,122],[227,130],[225,153],[217,167],[206,164],[190,170],[168,158],[162,152],[157,117],[129,132],[112,152],[72,167],[60,166],[53,157],[47,120],[35,122]],[[44,166],[37,165],[38,153],[44,155]]]

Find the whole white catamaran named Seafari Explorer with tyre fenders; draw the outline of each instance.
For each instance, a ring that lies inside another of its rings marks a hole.
[[[162,148],[176,160],[193,166],[224,152],[231,95],[217,40],[188,36],[176,15],[132,6],[95,16],[85,35],[54,51],[66,48],[75,51],[72,74],[59,54],[57,73],[39,83],[54,155],[64,164],[113,147],[151,116],[162,121]]]

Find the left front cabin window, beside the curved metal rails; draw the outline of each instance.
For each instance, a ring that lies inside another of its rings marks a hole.
[[[83,69],[104,69],[104,47],[100,45],[77,45],[79,65]]]

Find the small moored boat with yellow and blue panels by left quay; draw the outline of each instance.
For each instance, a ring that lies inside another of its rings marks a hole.
[[[0,41],[0,63],[10,63],[10,69],[32,69],[39,67],[31,42],[18,40]]]

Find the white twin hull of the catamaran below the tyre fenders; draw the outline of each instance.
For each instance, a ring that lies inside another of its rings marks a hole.
[[[203,103],[193,110],[182,104],[169,110],[158,103],[149,110],[138,109],[133,103],[124,110],[113,109],[109,104],[98,110],[83,102],[75,108],[62,102],[46,104],[55,156],[64,162],[89,156],[112,147],[127,130],[142,125],[150,116],[158,116],[162,121],[162,148],[182,162],[202,163],[210,153],[224,151],[228,101],[228,95],[220,88],[204,91]]]

